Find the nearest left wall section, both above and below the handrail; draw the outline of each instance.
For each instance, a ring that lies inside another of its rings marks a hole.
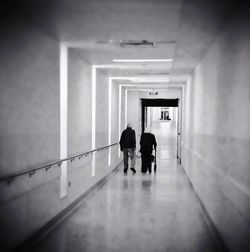
[[[60,89],[58,42],[18,16],[1,25],[3,176],[60,158]],[[53,180],[60,171],[56,168],[48,174],[19,177],[10,185],[0,183],[1,250],[15,246],[59,210],[46,198],[58,198],[58,181]]]

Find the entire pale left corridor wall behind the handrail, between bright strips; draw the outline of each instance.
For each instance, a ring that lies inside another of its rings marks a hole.
[[[5,35],[0,57],[0,176],[4,176],[60,159],[60,43],[44,27],[21,16],[6,20],[0,28]],[[91,65],[75,49],[69,49],[68,56],[67,140],[68,155],[74,155],[91,150]],[[103,96],[97,92],[97,143],[102,147],[108,144],[108,82],[105,75],[97,81],[103,92]],[[117,118],[114,113],[113,136]],[[68,162],[68,192],[63,198],[58,166],[20,176],[10,184],[1,182],[1,251],[25,241],[109,174],[120,159],[117,147],[112,148],[108,165],[107,152],[96,155],[94,174],[91,156]]]

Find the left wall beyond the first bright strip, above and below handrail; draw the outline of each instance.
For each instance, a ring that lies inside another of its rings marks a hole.
[[[69,49],[68,76],[68,155],[92,149],[92,67],[83,57],[82,49]],[[115,97],[114,86],[113,96]],[[115,99],[115,98],[114,98]],[[108,145],[109,85],[105,72],[96,71],[96,147]],[[112,135],[118,126],[118,111],[113,113]],[[115,143],[115,142],[112,142]],[[108,151],[96,153],[95,165],[92,155],[81,160],[68,162],[68,195],[66,206],[80,197],[91,186],[109,174],[120,162],[117,147],[111,149],[110,164]]]

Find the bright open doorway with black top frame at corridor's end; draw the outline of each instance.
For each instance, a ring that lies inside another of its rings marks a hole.
[[[179,99],[141,99],[141,132],[150,127],[156,135],[162,158],[180,159]]]

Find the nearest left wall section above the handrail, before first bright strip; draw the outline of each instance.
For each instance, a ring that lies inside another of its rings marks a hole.
[[[11,22],[1,36],[0,175],[59,157],[58,43]]]

